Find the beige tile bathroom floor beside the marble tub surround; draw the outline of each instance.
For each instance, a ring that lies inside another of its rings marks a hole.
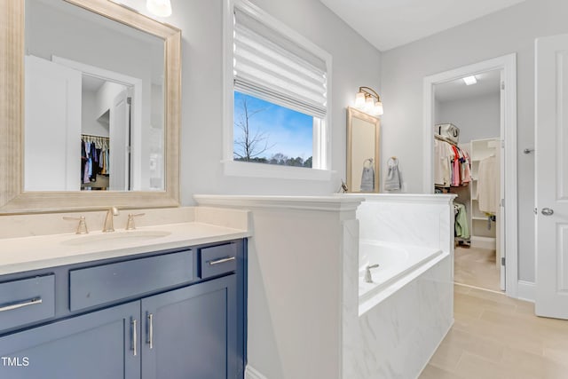
[[[454,326],[420,379],[566,379],[568,320],[532,303],[454,286]]]

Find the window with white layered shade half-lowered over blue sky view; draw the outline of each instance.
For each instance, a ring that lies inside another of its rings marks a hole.
[[[329,54],[246,0],[225,21],[225,162],[329,170]]]

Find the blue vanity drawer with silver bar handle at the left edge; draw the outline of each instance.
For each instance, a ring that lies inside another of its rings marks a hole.
[[[55,316],[55,275],[0,283],[0,329]]]

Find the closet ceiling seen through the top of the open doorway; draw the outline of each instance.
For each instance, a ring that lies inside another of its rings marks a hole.
[[[488,71],[483,74],[475,75],[476,84],[466,85],[463,79],[456,79],[452,82],[437,84],[434,89],[436,99],[444,103],[461,99],[470,99],[477,96],[500,93],[501,71]]]

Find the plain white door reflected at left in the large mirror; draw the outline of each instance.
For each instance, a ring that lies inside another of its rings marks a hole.
[[[25,58],[24,189],[81,188],[81,72]]]

